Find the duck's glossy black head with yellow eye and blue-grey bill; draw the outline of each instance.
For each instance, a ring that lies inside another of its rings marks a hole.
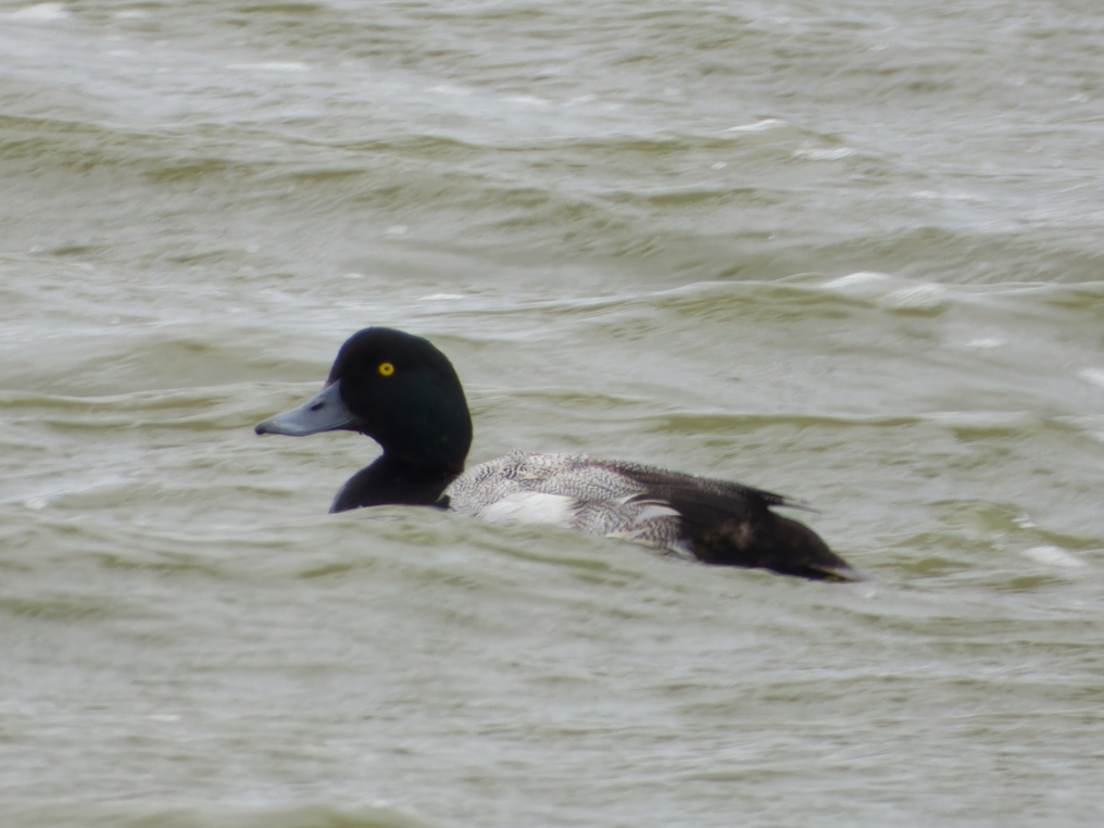
[[[365,328],[341,346],[322,390],[257,424],[257,434],[367,434],[403,463],[464,468],[471,415],[453,363],[421,337]]]

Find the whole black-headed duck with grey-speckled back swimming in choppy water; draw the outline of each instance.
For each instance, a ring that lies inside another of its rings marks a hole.
[[[473,425],[456,369],[429,340],[392,328],[353,333],[319,393],[254,431],[349,431],[380,445],[383,453],[341,487],[331,512],[432,507],[567,527],[705,564],[862,580],[816,532],[774,511],[808,507],[763,489],[584,454],[513,450],[465,469]]]

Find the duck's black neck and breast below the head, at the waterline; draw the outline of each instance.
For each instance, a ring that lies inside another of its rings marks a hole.
[[[349,478],[330,512],[389,503],[445,508],[448,503],[442,501],[440,493],[463,470],[463,459],[447,466],[423,465],[384,452],[375,463]]]

